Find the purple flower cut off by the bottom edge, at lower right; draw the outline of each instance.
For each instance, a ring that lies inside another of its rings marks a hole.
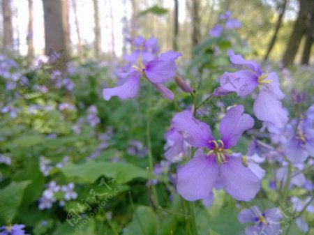
[[[282,234],[280,220],[283,218],[278,208],[272,208],[261,213],[257,206],[240,211],[238,220],[241,223],[254,223],[254,226],[246,227],[246,235],[276,235]]]

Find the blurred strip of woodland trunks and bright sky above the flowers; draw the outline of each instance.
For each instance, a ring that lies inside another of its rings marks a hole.
[[[58,47],[80,59],[108,59],[142,35],[156,36],[162,51],[191,56],[226,10],[242,23],[239,33],[257,58],[308,63],[311,0],[1,0],[0,47],[29,56]]]

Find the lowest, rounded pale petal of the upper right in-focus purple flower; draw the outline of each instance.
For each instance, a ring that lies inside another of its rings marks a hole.
[[[254,105],[254,114],[261,121],[274,123],[277,128],[283,128],[288,121],[287,111],[283,109],[281,102],[273,94],[262,89],[258,94]]]

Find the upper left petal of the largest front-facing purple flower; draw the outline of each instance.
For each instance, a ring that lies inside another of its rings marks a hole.
[[[192,112],[188,110],[176,114],[172,119],[172,125],[181,132],[181,135],[191,146],[209,148],[209,141],[214,140],[207,123],[195,119]]]

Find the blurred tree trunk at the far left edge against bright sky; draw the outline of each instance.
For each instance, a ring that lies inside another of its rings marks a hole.
[[[13,49],[13,25],[10,0],[2,0],[3,47]]]

